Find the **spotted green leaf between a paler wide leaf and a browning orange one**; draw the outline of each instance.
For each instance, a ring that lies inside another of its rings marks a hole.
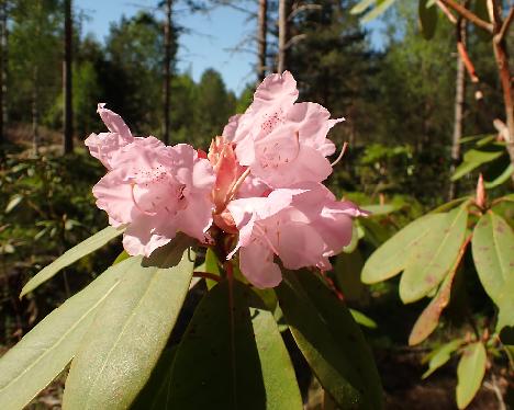
[[[428,295],[449,272],[465,240],[468,221],[467,203],[443,215],[442,224],[407,251],[409,261],[400,280],[400,298],[409,304]],[[434,216],[436,216],[434,215]]]

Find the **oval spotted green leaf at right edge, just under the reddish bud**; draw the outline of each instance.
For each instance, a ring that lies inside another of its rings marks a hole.
[[[483,288],[496,305],[514,282],[514,232],[499,215],[488,212],[478,221],[471,242],[473,261]]]

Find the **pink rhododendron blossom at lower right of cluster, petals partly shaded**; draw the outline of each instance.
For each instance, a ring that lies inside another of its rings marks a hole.
[[[299,184],[277,189],[267,197],[232,201],[227,205],[239,239],[239,267],[257,287],[277,286],[287,269],[317,266],[329,270],[328,257],[351,239],[351,217],[364,213],[350,202],[336,201],[324,185]]]

